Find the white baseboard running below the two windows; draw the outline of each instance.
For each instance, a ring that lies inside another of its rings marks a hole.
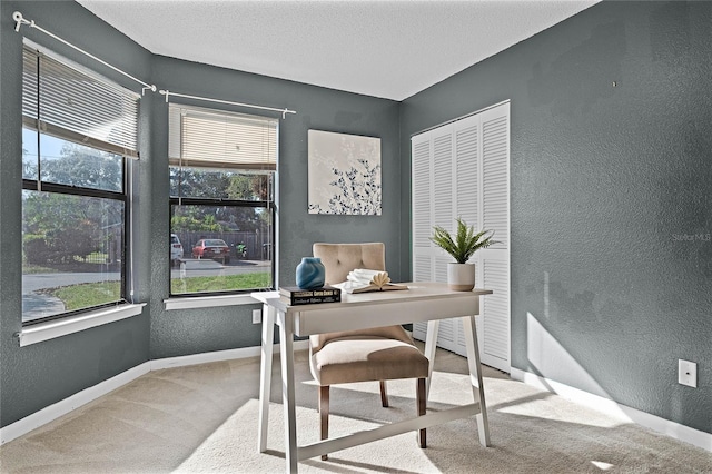
[[[295,340],[294,349],[303,350],[308,348],[308,340]],[[275,345],[275,353],[279,352],[279,345]],[[107,381],[103,381],[95,386],[85,388],[81,392],[71,395],[62,401],[59,401],[39,412],[32,413],[22,419],[19,419],[3,428],[0,428],[0,445],[8,443],[14,438],[18,438],[32,429],[37,429],[60,416],[70,413],[73,409],[79,408],[93,402],[95,399],[112,392],[129,382],[135,381],[141,375],[148,374],[151,371],[159,371],[170,367],[182,367],[187,365],[206,364],[209,362],[229,361],[237,358],[257,357],[260,355],[260,347],[245,347],[240,349],[219,350],[204,354],[192,354],[180,357],[166,357],[145,362],[136,367],[129,368]]]

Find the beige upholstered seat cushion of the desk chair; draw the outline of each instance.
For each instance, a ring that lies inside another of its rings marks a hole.
[[[377,336],[333,338],[312,354],[309,365],[319,385],[428,375],[428,359],[417,347]]]

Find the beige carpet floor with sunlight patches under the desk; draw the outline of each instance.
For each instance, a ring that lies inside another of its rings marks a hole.
[[[268,452],[257,452],[259,361],[156,371],[0,447],[2,473],[280,473],[285,470],[279,364]],[[464,358],[436,356],[428,411],[471,403]],[[297,354],[299,444],[318,438],[316,386]],[[332,435],[415,414],[414,382],[333,387]],[[712,453],[589,409],[485,368],[492,446],[474,418],[333,453],[299,464],[329,473],[712,473]]]

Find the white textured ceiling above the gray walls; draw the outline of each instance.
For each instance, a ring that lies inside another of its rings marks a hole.
[[[597,0],[78,0],[149,51],[403,100]]]

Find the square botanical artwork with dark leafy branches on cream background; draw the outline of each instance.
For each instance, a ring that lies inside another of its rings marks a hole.
[[[308,131],[309,214],[380,216],[380,138]]]

